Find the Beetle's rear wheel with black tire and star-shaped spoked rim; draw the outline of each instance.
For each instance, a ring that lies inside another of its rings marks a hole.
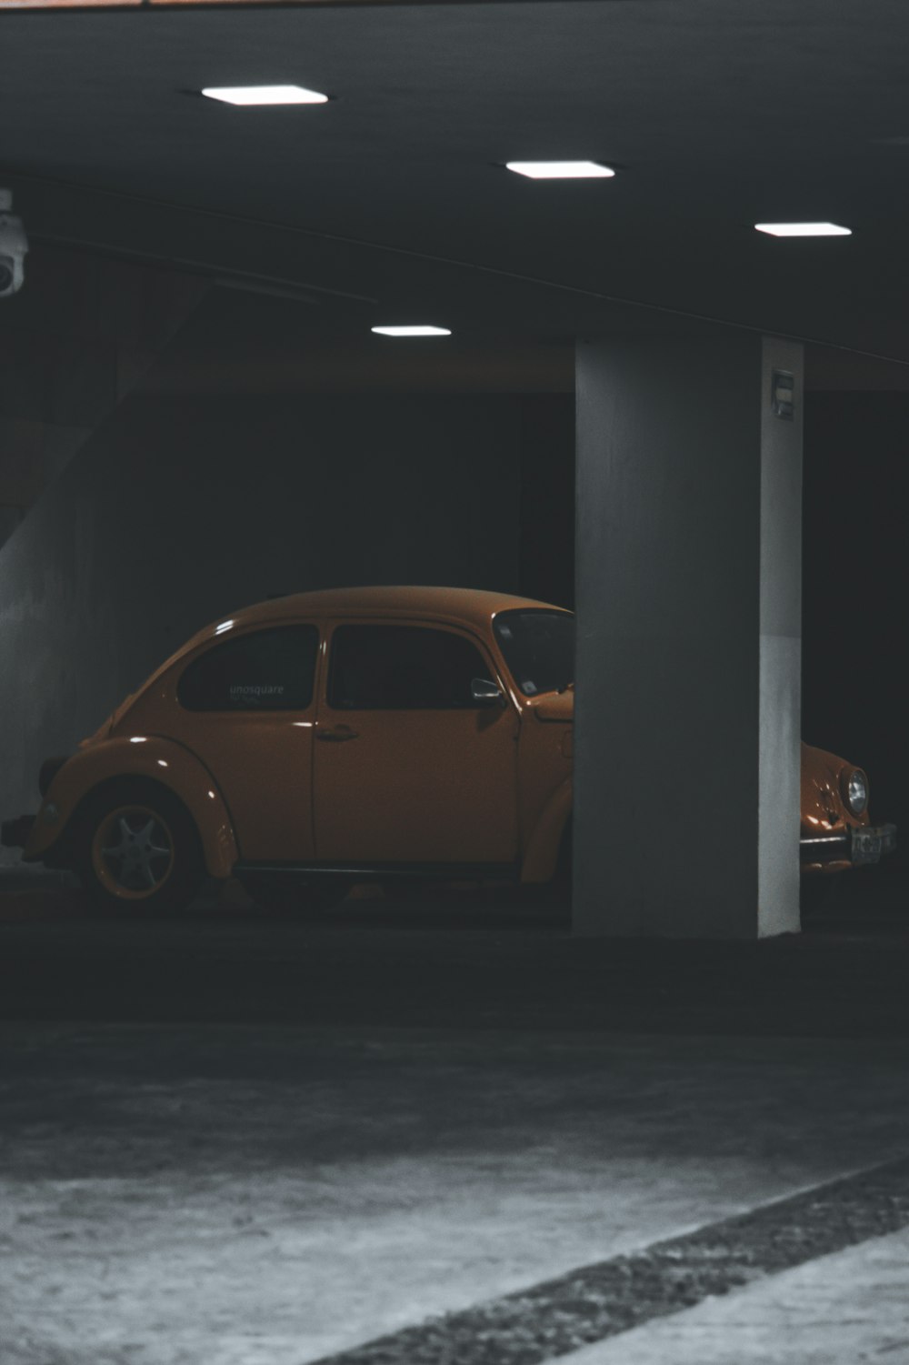
[[[96,908],[138,917],[184,910],[205,876],[198,830],[183,803],[141,778],[89,797],[70,838]]]

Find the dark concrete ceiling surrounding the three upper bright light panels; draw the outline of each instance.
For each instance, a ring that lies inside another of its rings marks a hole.
[[[299,289],[334,334],[565,340],[618,299],[909,360],[908,46],[905,0],[7,12],[0,183],[38,242]],[[194,93],[257,82],[337,98]],[[618,175],[501,168],[547,157]]]

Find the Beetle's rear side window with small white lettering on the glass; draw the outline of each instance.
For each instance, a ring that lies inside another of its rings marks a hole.
[[[285,625],[224,640],[177,684],[187,711],[303,711],[313,700],[319,632]]]

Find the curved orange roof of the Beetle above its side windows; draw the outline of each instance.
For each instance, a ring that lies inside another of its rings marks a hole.
[[[517,597],[512,592],[489,592],[485,588],[446,587],[360,587],[322,588],[315,592],[291,592],[287,597],[257,602],[232,616],[236,627],[265,621],[298,620],[307,616],[434,616],[442,620],[487,624],[498,612],[549,609],[550,602]]]

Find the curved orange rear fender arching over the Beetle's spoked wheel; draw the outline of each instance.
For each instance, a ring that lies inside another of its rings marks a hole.
[[[190,749],[160,734],[93,741],[67,759],[44,796],[23,859],[34,863],[52,856],[86,797],[108,782],[130,777],[146,778],[173,792],[195,822],[209,874],[231,875],[239,854],[224,797]]]

